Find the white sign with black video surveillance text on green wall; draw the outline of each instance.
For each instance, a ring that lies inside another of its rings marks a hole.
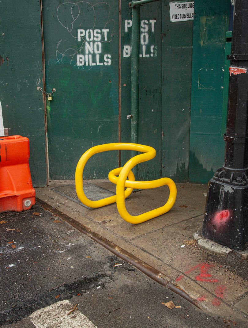
[[[194,19],[194,1],[170,2],[170,21],[183,22]]]

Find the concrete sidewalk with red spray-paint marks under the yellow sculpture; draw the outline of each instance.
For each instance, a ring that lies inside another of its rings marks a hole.
[[[115,192],[115,185],[108,180],[88,181]],[[202,310],[227,322],[231,320],[229,323],[234,322],[233,325],[247,320],[248,261],[235,252],[228,256],[209,253],[192,239],[201,230],[206,185],[177,184],[178,197],[170,212],[132,225],[120,217],[116,204],[89,210],[53,190],[73,183],[72,180],[51,181],[47,188],[36,189],[36,196],[162,272]],[[138,215],[162,206],[166,197],[166,186],[138,191],[126,200],[126,208],[132,215]]]

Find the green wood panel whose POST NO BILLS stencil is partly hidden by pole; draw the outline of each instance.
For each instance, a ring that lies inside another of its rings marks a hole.
[[[130,142],[131,9],[121,1],[121,140]],[[156,157],[138,165],[140,180],[161,177],[161,2],[141,7],[139,143],[156,149]],[[143,48],[145,46],[145,48]],[[130,158],[122,152],[122,165]]]

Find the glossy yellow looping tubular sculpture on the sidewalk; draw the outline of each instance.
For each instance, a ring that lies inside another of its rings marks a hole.
[[[116,195],[96,201],[90,200],[86,197],[83,188],[83,172],[86,162],[94,154],[110,150],[132,150],[144,154],[139,154],[132,157],[123,167],[114,169],[109,172],[109,180],[116,184]],[[153,159],[155,156],[156,150],[154,148],[134,143],[117,142],[90,148],[81,156],[76,168],[75,184],[78,198],[84,205],[92,208],[99,208],[116,202],[117,209],[121,217],[125,221],[134,224],[145,222],[168,212],[174,205],[177,197],[177,187],[174,181],[170,178],[161,178],[152,181],[135,181],[134,174],[131,171],[135,165]],[[127,212],[125,207],[125,198],[132,193],[133,189],[151,189],[164,185],[167,185],[170,190],[169,198],[165,205],[137,216],[130,215]]]

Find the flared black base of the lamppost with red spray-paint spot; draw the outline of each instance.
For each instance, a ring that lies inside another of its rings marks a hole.
[[[233,250],[248,248],[248,185],[209,181],[201,234]]]

